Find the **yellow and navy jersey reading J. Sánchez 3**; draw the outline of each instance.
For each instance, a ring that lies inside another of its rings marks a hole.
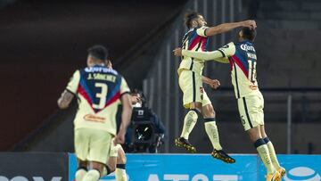
[[[129,91],[126,80],[103,65],[78,70],[74,78],[78,78],[75,129],[97,128],[115,135],[119,98]]]

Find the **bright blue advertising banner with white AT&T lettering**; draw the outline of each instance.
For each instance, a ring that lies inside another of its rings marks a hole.
[[[207,154],[127,154],[129,181],[262,181],[266,169],[259,157],[235,154],[235,164],[214,160]],[[287,169],[285,181],[320,181],[321,155],[279,155]],[[70,181],[77,162],[70,154]],[[113,174],[104,181],[115,181]]]

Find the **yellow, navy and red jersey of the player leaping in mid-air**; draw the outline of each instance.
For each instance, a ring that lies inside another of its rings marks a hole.
[[[209,37],[206,36],[205,29],[207,27],[193,28],[187,31],[183,37],[182,49],[193,50],[197,52],[204,52],[209,44]],[[204,62],[195,62],[193,58],[183,56],[182,62],[178,68],[178,74],[183,70],[192,70],[195,73],[202,75],[202,70],[204,68]]]

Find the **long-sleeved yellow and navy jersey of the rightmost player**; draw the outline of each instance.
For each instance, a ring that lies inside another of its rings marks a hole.
[[[182,53],[204,61],[229,62],[232,84],[237,99],[259,90],[256,79],[257,56],[255,48],[250,41],[231,42],[213,52],[200,53],[184,50]]]

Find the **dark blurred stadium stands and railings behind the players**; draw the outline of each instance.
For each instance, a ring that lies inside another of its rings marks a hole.
[[[166,128],[161,152],[174,146],[185,110],[177,85],[179,60],[171,53],[187,30],[187,9],[209,25],[254,19],[258,81],[265,97],[265,121],[279,153],[321,153],[321,2],[317,0],[6,0],[0,3],[2,119],[0,151],[72,152],[76,104],[57,111],[56,100],[72,72],[86,66],[86,48],[106,45],[114,68]],[[211,38],[210,50],[235,40],[235,32]],[[229,66],[207,62],[204,75],[221,88],[205,86],[218,117],[227,152],[255,152],[243,132]],[[191,142],[210,152],[199,122]]]

